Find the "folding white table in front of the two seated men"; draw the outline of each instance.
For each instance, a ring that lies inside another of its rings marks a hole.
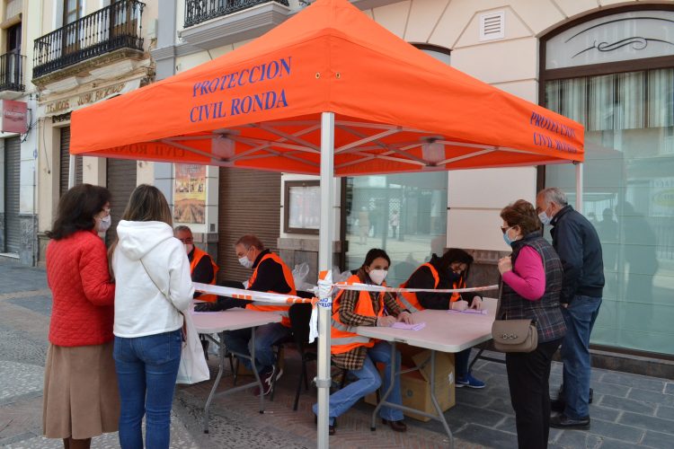
[[[241,390],[251,388],[254,385],[259,385],[262,391],[262,382],[260,374],[254,369],[255,366],[255,328],[269,324],[271,322],[280,322],[281,317],[278,313],[273,312],[259,312],[247,309],[229,309],[224,312],[208,312],[208,313],[192,313],[192,321],[197,331],[202,334],[218,334],[220,343],[218,345],[218,356],[220,357],[220,365],[217,370],[216,382],[208,394],[206,406],[204,407],[204,433],[208,434],[208,410],[210,403],[216,395],[217,385],[220,383],[220,378],[225,371],[225,345],[223,344],[225,332],[227,330],[239,330],[253,328],[251,332],[251,355],[239,354],[229,351],[237,357],[244,357],[251,360],[253,364],[253,374],[255,374],[255,382],[246,383],[244,385],[230,388],[226,392],[220,392],[219,395],[232,394]],[[260,413],[264,413],[264,395],[260,395]]]

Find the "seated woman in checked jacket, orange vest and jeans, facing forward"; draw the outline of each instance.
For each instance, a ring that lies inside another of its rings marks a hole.
[[[372,249],[368,251],[362,267],[349,277],[348,282],[385,286],[384,279],[390,264],[386,251]],[[384,314],[385,307],[388,315]],[[330,396],[330,435],[334,435],[334,418],[350,409],[360,398],[377,391],[382,383],[385,392],[391,384],[390,368],[393,362],[389,344],[361,337],[351,329],[355,326],[391,326],[395,321],[410,323],[411,318],[411,314],[396,304],[394,297],[388,293],[341,290],[335,297],[331,327],[333,363],[350,370],[358,381],[349,383]],[[400,355],[395,358],[396,369],[400,370]],[[378,362],[386,365],[383,381],[377,370]],[[399,376],[395,376],[393,392],[386,400],[402,403]],[[317,404],[314,404],[315,414],[317,409]],[[396,432],[407,430],[401,410],[382,407],[379,413],[382,422]]]

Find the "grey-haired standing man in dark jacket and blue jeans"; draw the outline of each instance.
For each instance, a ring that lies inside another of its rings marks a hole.
[[[566,335],[562,343],[563,396],[553,402],[550,419],[556,428],[589,428],[590,333],[599,313],[604,288],[604,264],[599,235],[590,221],[569,206],[561,189],[538,192],[538,216],[552,225],[554,250],[564,269],[560,303]]]

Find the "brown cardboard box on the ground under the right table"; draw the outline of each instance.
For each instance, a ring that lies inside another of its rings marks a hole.
[[[403,405],[435,414],[433,402],[430,400],[430,350],[398,345],[403,356],[403,367],[421,366],[418,371],[404,373],[400,376],[400,390],[403,396]],[[412,362],[412,363],[410,363]],[[435,355],[435,397],[440,409],[446,411],[454,407],[456,396],[454,392],[454,354],[437,352]],[[365,397],[368,404],[377,405],[377,395],[368,394]],[[412,412],[404,415],[420,421],[430,421],[430,418]]]

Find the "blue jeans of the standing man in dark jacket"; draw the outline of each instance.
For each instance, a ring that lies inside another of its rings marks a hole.
[[[590,333],[597,320],[601,298],[576,295],[562,308],[566,335],[562,349],[564,415],[572,419],[590,416]]]

